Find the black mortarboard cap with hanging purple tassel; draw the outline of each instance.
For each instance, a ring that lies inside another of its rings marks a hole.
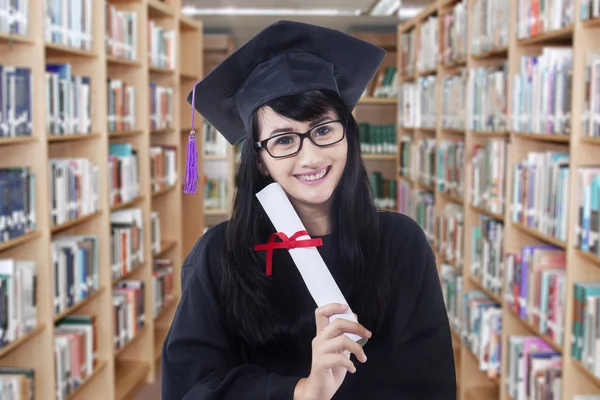
[[[341,31],[293,21],[269,25],[222,61],[187,97],[230,144],[250,132],[254,111],[283,96],[337,92],[350,110],[379,68],[385,50]],[[197,186],[194,113],[185,193]]]

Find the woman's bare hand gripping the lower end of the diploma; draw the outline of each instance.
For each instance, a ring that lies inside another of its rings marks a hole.
[[[308,378],[301,379],[294,391],[294,400],[329,400],[340,388],[346,373],[356,372],[350,354],[360,362],[366,362],[367,356],[360,344],[344,333],[354,333],[370,338],[369,332],[359,323],[337,318],[329,323],[335,314],[348,310],[345,304],[327,304],[315,311],[317,334],[312,342],[312,366]]]

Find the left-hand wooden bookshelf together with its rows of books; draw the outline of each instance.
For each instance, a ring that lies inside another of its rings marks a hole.
[[[1,262],[22,269],[21,296],[32,287],[26,272],[35,267],[38,327],[0,355],[3,367],[34,374],[37,397],[51,398],[65,388],[62,398],[115,400],[134,397],[137,388],[154,382],[156,344],[164,337],[155,337],[153,306],[180,298],[179,280],[167,286],[166,279],[180,276],[182,254],[204,226],[196,217],[183,218],[184,212],[193,214],[189,209],[202,214],[202,207],[198,196],[182,193],[180,133],[189,125],[185,98],[194,83],[180,74],[203,76],[203,24],[181,15],[181,0],[76,3],[64,4],[67,24],[57,2],[28,0],[24,34],[0,34],[0,65],[19,67],[19,74],[31,78],[15,87],[29,90],[30,125],[3,129],[10,137],[0,138],[0,191],[12,176],[21,191],[14,202],[20,204],[11,203],[20,208],[11,210],[19,212],[17,229],[12,226],[18,232],[10,234],[25,233],[0,244]],[[172,186],[152,192],[165,185]],[[157,242],[163,245],[160,259],[153,257]],[[139,267],[113,282],[112,271],[126,260]],[[152,290],[157,285],[164,290]],[[129,307],[134,298],[142,299],[143,316],[142,308]],[[118,353],[114,339],[128,329],[132,309],[144,331]],[[162,327],[172,315],[164,314]],[[72,329],[93,338],[99,361],[76,390],[63,385],[65,358],[92,355],[74,354],[87,347],[74,346]],[[96,389],[103,394],[94,394]]]

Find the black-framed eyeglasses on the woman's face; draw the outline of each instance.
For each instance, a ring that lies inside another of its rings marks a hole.
[[[254,142],[254,145],[267,150],[273,158],[283,158],[298,154],[306,138],[309,138],[315,146],[326,147],[342,141],[345,135],[346,126],[341,121],[329,121],[314,126],[304,133],[286,132]]]

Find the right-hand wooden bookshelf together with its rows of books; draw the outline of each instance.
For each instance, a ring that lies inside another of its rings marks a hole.
[[[537,6],[438,0],[397,29],[399,211],[437,254],[460,399],[527,399],[534,373],[552,398],[600,395],[578,361],[600,363],[586,344],[600,318],[600,140],[587,137],[600,136],[600,22],[579,20],[592,2]]]

